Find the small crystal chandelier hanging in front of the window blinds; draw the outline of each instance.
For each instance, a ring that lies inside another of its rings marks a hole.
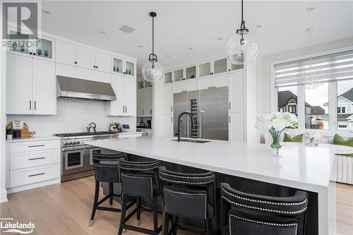
[[[311,56],[311,32],[313,28],[305,30],[309,33],[309,54],[310,54],[310,65],[309,71],[304,71],[299,75],[300,83],[305,85],[306,89],[314,89],[320,85],[323,85],[323,71],[321,68],[313,68],[312,56]]]

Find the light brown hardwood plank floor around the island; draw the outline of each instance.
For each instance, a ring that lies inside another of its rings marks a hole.
[[[8,203],[0,204],[0,215],[12,217],[15,222],[33,222],[33,234],[117,234],[120,213],[97,210],[93,226],[88,227],[94,185],[93,177],[88,177],[12,193],[8,195]],[[336,188],[337,234],[353,234],[353,186],[337,183]],[[114,203],[114,207],[119,206]],[[131,224],[136,225],[136,217],[131,219]],[[143,212],[140,226],[152,229],[150,213]],[[124,234],[138,233],[126,231]],[[178,234],[191,233],[178,231]]]

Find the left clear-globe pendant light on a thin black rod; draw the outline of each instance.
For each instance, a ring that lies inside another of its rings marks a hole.
[[[148,82],[155,82],[162,78],[163,68],[157,62],[157,55],[155,54],[155,17],[157,13],[150,12],[152,17],[152,54],[148,56],[148,61],[143,65],[142,76]]]

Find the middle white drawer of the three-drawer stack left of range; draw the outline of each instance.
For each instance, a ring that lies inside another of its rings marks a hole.
[[[60,150],[42,150],[32,152],[15,152],[10,155],[10,170],[26,167],[40,167],[59,163]]]

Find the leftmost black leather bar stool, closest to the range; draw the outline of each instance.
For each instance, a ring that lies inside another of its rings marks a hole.
[[[95,200],[93,202],[92,215],[90,217],[90,226],[93,224],[96,210],[106,210],[110,212],[120,212],[119,208],[113,208],[113,197],[120,197],[113,192],[113,183],[120,183],[119,159],[126,159],[124,152],[112,152],[108,150],[95,150],[92,152],[93,166],[95,167]],[[98,201],[100,195],[100,182],[109,183],[109,194]],[[105,200],[109,198],[111,207],[102,207]],[[133,203],[131,203],[133,204]],[[131,207],[129,204],[129,207]]]

